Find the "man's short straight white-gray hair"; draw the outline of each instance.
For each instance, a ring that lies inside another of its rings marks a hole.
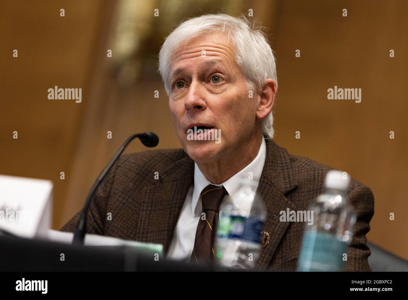
[[[266,79],[274,79],[277,85],[276,60],[261,27],[247,18],[226,14],[208,14],[182,22],[167,36],[159,53],[159,72],[166,93],[170,97],[170,59],[173,51],[182,43],[204,33],[219,31],[226,35],[236,49],[235,61],[246,78],[246,86],[255,91],[264,88]],[[273,138],[273,115],[262,120],[262,133]]]

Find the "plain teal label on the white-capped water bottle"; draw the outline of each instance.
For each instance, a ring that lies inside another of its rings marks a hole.
[[[326,232],[306,231],[299,256],[298,271],[343,271],[347,243]]]

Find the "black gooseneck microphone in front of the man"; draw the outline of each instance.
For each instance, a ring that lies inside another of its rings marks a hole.
[[[155,147],[159,143],[159,137],[153,132],[136,133],[126,139],[123,145],[119,148],[118,152],[116,152],[111,161],[109,161],[108,165],[106,165],[106,167],[102,170],[98,179],[96,179],[95,183],[93,183],[92,188],[89,191],[88,196],[86,197],[85,205],[81,210],[78,223],[74,230],[74,238],[72,241],[73,245],[84,245],[86,232],[86,214],[88,213],[89,204],[91,203],[93,194],[95,194],[95,191],[100,185],[101,181],[104,179],[106,174],[108,174],[109,170],[112,168],[115,161],[119,158],[120,154],[122,154],[126,146],[136,137],[139,138],[140,141],[142,141],[143,145],[146,147]]]

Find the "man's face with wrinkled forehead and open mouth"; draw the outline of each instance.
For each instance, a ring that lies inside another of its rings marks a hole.
[[[233,154],[259,130],[255,91],[250,98],[235,63],[235,49],[222,33],[182,43],[171,56],[170,84],[169,106],[177,136],[197,163]],[[188,138],[188,129],[194,126],[220,129],[220,143]]]

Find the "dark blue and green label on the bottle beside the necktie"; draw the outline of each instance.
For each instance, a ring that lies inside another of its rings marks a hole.
[[[264,223],[256,218],[243,216],[221,216],[217,236],[220,238],[237,238],[261,243]]]

